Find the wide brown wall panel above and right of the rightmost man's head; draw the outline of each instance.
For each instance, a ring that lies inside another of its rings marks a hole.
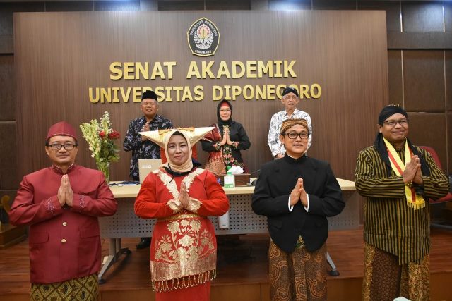
[[[443,51],[403,51],[403,80],[407,111],[445,110]]]

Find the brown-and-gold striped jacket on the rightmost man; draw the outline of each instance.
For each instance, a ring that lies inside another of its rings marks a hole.
[[[415,147],[415,146],[413,146]],[[432,156],[415,147],[427,163],[430,176],[424,181],[420,195],[424,199],[443,197],[448,192],[448,178],[436,166]],[[405,163],[405,147],[397,150]],[[355,169],[355,185],[364,204],[364,241],[397,256],[399,264],[420,262],[430,251],[429,206],[414,210],[408,207],[402,176],[388,176],[386,164],[376,147],[359,152]]]

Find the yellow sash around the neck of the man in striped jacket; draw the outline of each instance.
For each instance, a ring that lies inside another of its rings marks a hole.
[[[408,141],[405,140],[405,164],[403,164],[396,152],[396,149],[394,149],[388,140],[384,138],[383,140],[386,145],[386,149],[388,149],[389,161],[391,162],[391,167],[393,168],[394,173],[396,173],[397,176],[402,176],[403,171],[405,171],[405,166],[411,161],[412,156],[411,149],[408,147]],[[408,207],[412,207],[415,210],[424,208],[425,200],[421,195],[416,195],[415,188],[409,187],[408,185],[404,185],[404,187]]]

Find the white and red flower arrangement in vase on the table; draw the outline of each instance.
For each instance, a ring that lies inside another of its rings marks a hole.
[[[100,121],[93,119],[90,123],[82,123],[80,128],[83,138],[88,142],[97,169],[104,173],[105,180],[109,183],[110,162],[119,161],[119,149],[114,144],[114,140],[119,139],[119,133],[112,129],[110,114],[105,111]]]

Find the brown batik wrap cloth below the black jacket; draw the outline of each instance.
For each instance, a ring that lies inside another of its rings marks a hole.
[[[270,240],[270,299],[326,301],[326,245],[308,252],[300,244],[294,252],[281,250]]]

